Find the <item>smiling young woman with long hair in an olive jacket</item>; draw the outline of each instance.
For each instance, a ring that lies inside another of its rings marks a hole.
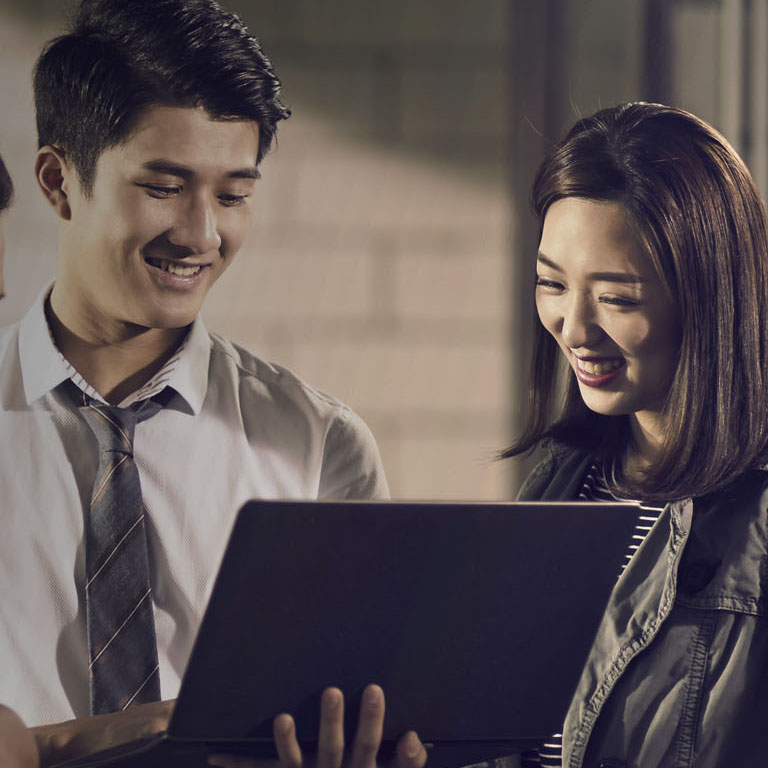
[[[760,195],[710,126],[627,104],[571,129],[541,166],[532,202],[541,243],[530,415],[506,455],[543,446],[546,458],[520,497],[616,497],[647,509],[568,711],[562,764],[762,765]]]

